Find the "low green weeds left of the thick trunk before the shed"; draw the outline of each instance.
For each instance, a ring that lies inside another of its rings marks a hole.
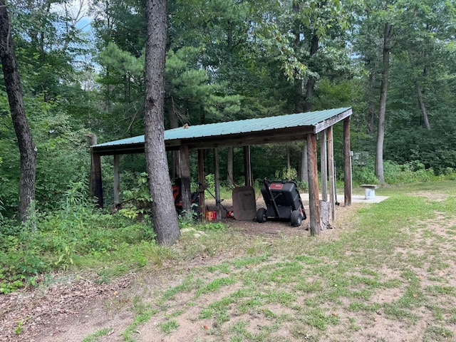
[[[21,226],[13,221],[1,226],[1,292],[30,284],[34,276],[51,269],[77,266],[88,256],[101,261],[121,254],[125,262],[145,266],[143,252],[131,251],[142,242],[154,243],[150,220],[137,223],[119,213],[104,214],[94,209],[80,182],[68,187],[60,207],[35,212]]]

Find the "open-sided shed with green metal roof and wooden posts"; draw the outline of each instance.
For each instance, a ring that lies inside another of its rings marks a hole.
[[[219,147],[244,147],[245,185],[252,185],[250,167],[250,146],[280,142],[306,141],[309,170],[309,217],[311,234],[321,230],[320,200],[318,192],[317,135],[321,135],[321,176],[322,200],[331,204],[332,219],[335,218],[336,180],[333,159],[333,125],[343,121],[343,160],[344,160],[344,202],[351,204],[351,150],[350,117],[352,110],[336,108],[307,113],[280,115],[269,118],[253,118],[207,125],[184,125],[165,130],[166,150],[178,151],[181,178],[183,209],[190,209],[190,158],[189,151],[198,151],[198,180],[204,182],[204,150],[214,149],[215,193],[219,203]],[[95,143],[96,144],[96,143]],[[114,202],[120,203],[119,196],[119,155],[144,153],[144,135],[92,145],[92,167],[90,189],[103,207],[103,185],[100,156],[114,157]],[[329,180],[329,187],[327,182]],[[170,190],[171,191],[171,190]],[[204,192],[200,196],[200,208],[204,210]],[[217,205],[217,217],[221,217]]]

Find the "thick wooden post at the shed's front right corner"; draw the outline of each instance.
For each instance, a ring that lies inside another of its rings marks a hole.
[[[318,165],[316,160],[316,135],[307,135],[307,165],[309,168],[309,216],[311,235],[318,235],[320,225],[320,199],[318,196]]]

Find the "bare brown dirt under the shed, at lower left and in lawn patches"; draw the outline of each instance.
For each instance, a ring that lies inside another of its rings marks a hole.
[[[231,209],[229,201],[224,201],[223,204],[227,209]],[[263,205],[262,199],[258,199],[257,207]],[[351,207],[337,207],[338,220],[336,223],[338,226],[336,229],[323,232],[321,238],[337,239],[339,232],[344,229],[343,222],[348,221],[350,215],[362,205],[353,204]],[[209,203],[209,209],[213,207],[213,203]],[[306,212],[309,212],[307,203],[304,203],[304,207]],[[245,234],[246,239],[261,237],[266,243],[268,240],[282,236],[309,235],[309,231],[306,230],[308,220],[299,228],[292,227],[290,222],[267,221],[264,224],[258,224],[254,221],[236,221],[226,217],[224,217],[223,222],[229,224],[231,229],[236,229],[237,232]],[[456,222],[451,224],[456,224]],[[230,257],[232,256],[219,254],[213,259],[193,259],[187,265],[181,265],[181,270],[190,269],[192,266],[217,264]],[[456,272],[456,268],[447,271]],[[99,331],[106,326],[113,327],[113,330],[103,336],[102,341],[124,341],[121,334],[135,318],[135,314],[128,310],[132,306],[132,298],[135,296],[150,297],[154,295],[153,289],[163,291],[172,284],[179,284],[179,281],[182,280],[182,274],[179,270],[175,270],[173,274],[166,269],[154,273],[131,273],[110,284],[97,284],[90,279],[94,279],[90,274],[86,276],[82,274],[76,278],[73,274],[54,274],[52,278],[45,279],[43,277],[39,279],[40,284],[37,288],[21,289],[12,294],[0,295],[0,341],[76,342],[83,341],[83,338],[90,333]],[[222,298],[224,293],[217,291],[214,296]],[[398,289],[388,289],[388,291],[385,290],[378,294],[378,301],[393,301],[397,296]],[[183,305],[186,299],[177,300],[182,301]],[[274,311],[278,308],[271,306],[269,309]],[[333,314],[337,315],[338,313]],[[186,315],[187,317],[197,316],[197,313],[192,313],[190,309]],[[353,314],[353,316],[355,315]],[[258,318],[253,317],[253,322],[254,319]],[[382,323],[384,324],[382,325]],[[191,319],[180,321],[179,330],[172,333],[172,336],[157,336],[157,330],[154,328],[156,324],[157,322],[152,318],[152,321],[147,325],[138,328],[138,339],[140,341],[199,341],[195,340],[198,332],[195,331],[195,324],[192,324]],[[363,331],[352,335],[352,338],[355,339],[351,341],[422,341],[415,335],[417,332],[423,331],[426,327],[425,322],[420,321],[417,326],[411,330],[408,328],[407,331],[400,325],[401,323],[398,322],[391,326],[390,321],[385,321],[383,316],[375,316],[371,322],[366,323]],[[287,336],[289,328],[285,325],[281,328],[283,331],[278,332],[283,341],[291,338],[291,336]],[[388,339],[368,338],[368,336],[376,336],[378,329]],[[403,330],[404,332],[398,335],[398,331]],[[307,337],[303,337],[302,341],[307,339]],[[291,339],[291,341],[296,340]]]

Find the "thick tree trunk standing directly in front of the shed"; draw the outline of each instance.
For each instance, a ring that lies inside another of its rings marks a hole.
[[[146,16],[145,157],[156,239],[159,244],[170,246],[179,239],[180,230],[172,198],[164,139],[166,1],[147,0]]]

